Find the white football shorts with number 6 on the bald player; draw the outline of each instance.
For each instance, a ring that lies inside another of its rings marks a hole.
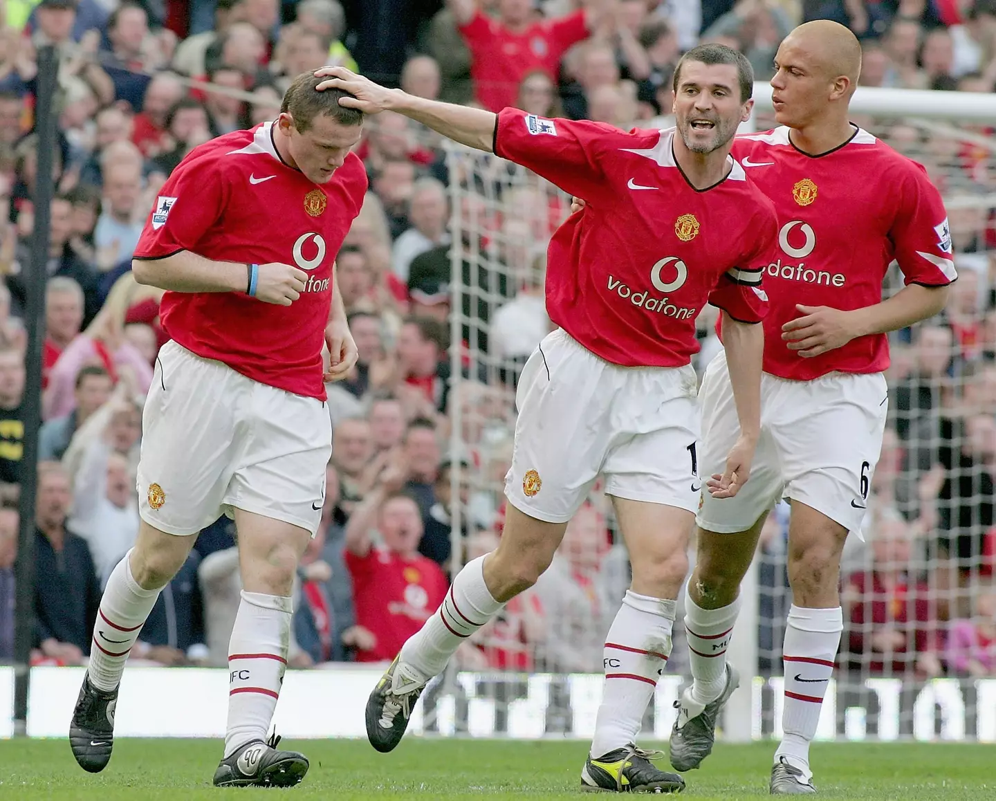
[[[725,352],[699,393],[702,475],[722,473],[740,435]],[[780,499],[812,506],[858,531],[881,450],[888,392],[880,373],[831,373],[813,381],[761,377],[761,436],[750,478],[732,498],[703,490],[696,523],[717,534],[746,531]]]

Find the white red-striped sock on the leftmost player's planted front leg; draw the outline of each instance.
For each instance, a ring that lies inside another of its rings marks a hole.
[[[265,740],[287,669],[293,600],[242,591],[228,642],[228,728],[225,757]]]

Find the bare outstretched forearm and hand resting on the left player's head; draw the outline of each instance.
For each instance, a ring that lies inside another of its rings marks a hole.
[[[498,125],[494,112],[416,98],[399,89],[385,89],[345,67],[323,67],[315,75],[328,79],[318,85],[319,90],[339,89],[353,96],[343,98],[339,102],[341,106],[359,109],[364,114],[397,112],[468,147],[494,152],[495,126]]]

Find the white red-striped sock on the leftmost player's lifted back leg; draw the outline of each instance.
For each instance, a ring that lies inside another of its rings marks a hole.
[[[90,683],[110,692],[121,683],[124,663],[131,647],[141,633],[155,599],[162,592],[145,590],[131,575],[128,560],[131,552],[124,554],[111,576],[101,598],[101,606],[94,624],[94,642],[90,647],[90,666],[87,673]]]

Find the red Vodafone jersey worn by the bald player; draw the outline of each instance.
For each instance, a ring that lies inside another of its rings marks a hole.
[[[947,215],[926,171],[861,129],[822,155],[794,147],[785,127],[738,136],[733,152],[778,212],[778,254],[764,280],[771,303],[765,372],[809,381],[834,371],[885,370],[884,334],[804,358],[789,350],[782,326],[803,316],[797,303],[845,310],[880,303],[893,259],[907,284],[955,279]]]

